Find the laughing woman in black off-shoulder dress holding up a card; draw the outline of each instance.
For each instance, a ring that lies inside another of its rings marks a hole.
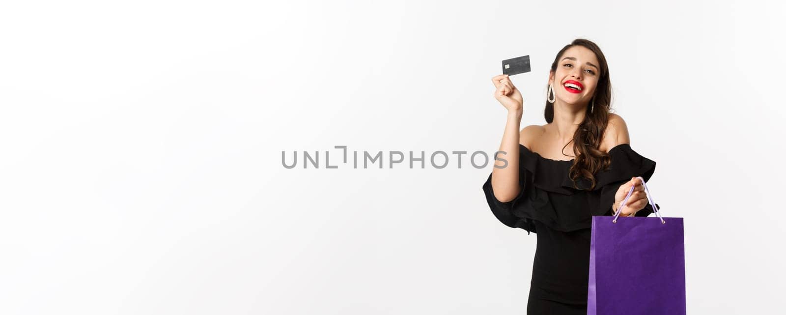
[[[543,126],[519,130],[520,91],[507,75],[492,82],[508,110],[499,148],[507,154],[506,163],[495,162],[483,192],[502,223],[537,234],[527,314],[584,315],[592,216],[651,214],[636,177],[648,181],[655,162],[630,147],[625,121],[609,112],[608,67],[593,42],[576,39],[556,54]],[[634,192],[619,209],[629,189]]]

